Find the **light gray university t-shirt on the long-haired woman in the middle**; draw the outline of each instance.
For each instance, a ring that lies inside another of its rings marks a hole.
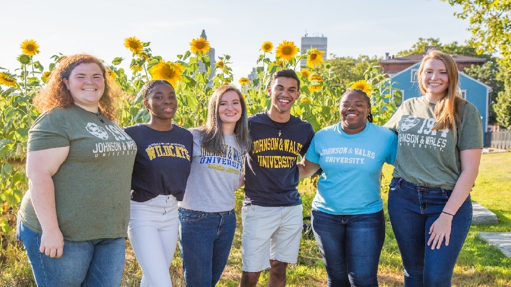
[[[192,169],[179,207],[203,212],[232,210],[244,160],[236,135],[224,136],[224,154],[218,155],[201,147],[203,133],[193,130],[192,134]]]

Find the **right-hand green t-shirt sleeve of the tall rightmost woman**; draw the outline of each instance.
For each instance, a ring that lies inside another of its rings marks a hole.
[[[458,129],[458,149],[460,151],[470,149],[482,149],[482,123],[477,108],[466,103],[461,114],[461,125]]]

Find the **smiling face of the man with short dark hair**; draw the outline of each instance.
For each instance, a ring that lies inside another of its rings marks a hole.
[[[296,80],[286,77],[276,78],[268,93],[271,96],[271,113],[290,114],[291,107],[300,97]]]

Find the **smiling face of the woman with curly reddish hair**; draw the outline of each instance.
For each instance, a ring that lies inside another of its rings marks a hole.
[[[98,112],[99,100],[105,91],[103,71],[96,63],[82,63],[76,66],[69,78],[63,78],[75,105]]]

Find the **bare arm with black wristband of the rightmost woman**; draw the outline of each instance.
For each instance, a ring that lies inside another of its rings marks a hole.
[[[463,204],[463,202],[467,199],[472,186],[474,186],[477,174],[479,173],[481,149],[461,151],[459,153],[459,157],[461,160],[461,174],[456,181],[451,197],[443,209],[444,212],[453,215],[456,214],[461,204]],[[431,249],[434,249],[435,247],[436,249],[439,249],[444,239],[446,241],[446,246],[449,245],[453,217],[444,212],[440,213],[440,217],[433,222],[429,229],[429,234],[431,234],[431,236],[428,240],[428,246],[431,245]]]

